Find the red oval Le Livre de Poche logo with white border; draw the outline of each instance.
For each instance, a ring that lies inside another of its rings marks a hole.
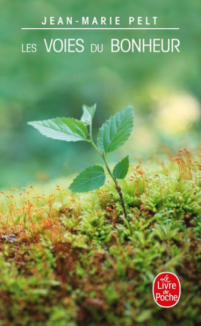
[[[164,271],[155,277],[153,297],[160,307],[170,308],[175,306],[179,301],[180,293],[180,282],[175,274]]]

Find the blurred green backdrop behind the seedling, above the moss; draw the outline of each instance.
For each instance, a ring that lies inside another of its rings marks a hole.
[[[67,176],[99,162],[89,144],[45,138],[27,125],[79,119],[84,103],[97,103],[95,134],[123,107],[135,108],[133,133],[108,155],[111,162],[127,154],[131,162],[147,158],[161,147],[175,155],[182,147],[200,146],[200,0],[0,0],[0,7],[0,188]],[[180,29],[21,30],[41,27],[44,16],[120,16],[120,27],[127,27],[129,16],[157,16],[157,27]],[[86,49],[47,53],[44,38],[83,38]],[[111,38],[178,38],[180,53],[111,53]],[[26,43],[36,43],[37,52],[22,53]],[[103,43],[103,52],[91,53],[91,43]]]

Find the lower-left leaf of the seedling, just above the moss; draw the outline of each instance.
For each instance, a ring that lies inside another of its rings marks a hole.
[[[87,192],[99,189],[105,182],[104,169],[98,165],[88,167],[72,182],[69,189],[74,192]]]

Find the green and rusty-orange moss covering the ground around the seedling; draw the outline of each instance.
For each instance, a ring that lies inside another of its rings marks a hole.
[[[200,150],[129,167],[90,193],[30,186],[1,194],[0,326],[201,323]],[[61,183],[62,183],[61,182]],[[175,273],[178,304],[152,296]]]

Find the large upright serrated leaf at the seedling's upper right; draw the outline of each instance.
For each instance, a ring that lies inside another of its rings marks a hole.
[[[128,139],[133,127],[133,108],[125,107],[110,117],[99,129],[97,145],[102,153],[114,151]]]

